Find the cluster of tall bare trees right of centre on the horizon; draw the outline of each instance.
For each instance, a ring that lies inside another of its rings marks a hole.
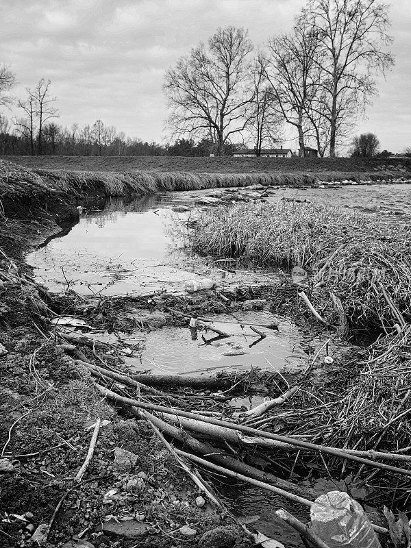
[[[169,127],[212,140],[217,155],[236,137],[259,155],[288,125],[300,156],[312,143],[333,157],[393,66],[389,26],[378,0],[308,0],[256,53],[247,29],[219,28],[166,73]]]

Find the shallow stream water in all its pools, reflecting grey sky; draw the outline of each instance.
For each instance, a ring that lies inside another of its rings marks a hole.
[[[381,219],[410,221],[410,191],[411,186],[406,184],[307,190],[280,188],[269,201],[309,200],[355,209]],[[184,292],[187,281],[199,277],[210,277],[223,287],[273,282],[277,278],[272,273],[238,269],[229,272],[219,268],[218,262],[199,258],[182,248],[182,234],[176,227],[180,225],[184,231],[184,223],[192,219],[195,199],[210,192],[212,190],[168,192],[136,199],[87,200],[82,203],[85,210],[79,222],[69,232],[30,253],[27,262],[34,267],[36,280],[52,292],[71,288],[85,296],[151,295],[164,291],[179,295]],[[190,209],[183,211],[184,208]],[[212,342],[210,333],[192,340],[188,329],[182,327],[155,329],[145,334],[145,349],[139,366],[136,367],[134,361],[134,368],[184,375],[227,368],[241,371],[250,366],[272,371],[285,366],[306,366],[307,354],[297,327],[262,309],[210,316],[215,327],[232,334],[228,342]],[[279,330],[266,330],[266,338],[256,344],[258,336],[249,325],[257,323],[278,323]],[[141,339],[142,334],[139,332],[137,336]],[[132,340],[133,336],[129,338]],[[127,337],[125,340],[127,342]],[[233,349],[239,351],[238,355],[230,355]],[[260,403],[262,397],[255,400],[253,406]],[[324,484],[321,485],[323,491],[336,488],[325,479],[318,480],[317,486],[319,482]],[[236,515],[245,518],[245,523],[252,523],[253,527],[283,543],[286,538],[288,547],[303,546],[299,536],[275,517],[273,509],[285,504],[286,510],[303,521],[308,512],[301,515],[301,510],[292,503],[243,484],[221,488],[221,496]]]

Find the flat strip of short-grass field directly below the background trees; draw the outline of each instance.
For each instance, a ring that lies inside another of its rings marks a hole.
[[[404,166],[411,158],[185,158],[182,156],[1,156],[32,169],[72,171],[166,171],[190,173],[377,173]],[[329,177],[325,177],[329,180]]]

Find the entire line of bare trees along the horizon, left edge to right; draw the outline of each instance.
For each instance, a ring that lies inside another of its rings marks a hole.
[[[389,26],[380,0],[308,0],[290,32],[257,50],[247,29],[217,29],[166,72],[175,142],[164,147],[132,140],[101,120],[61,127],[51,82],[42,78],[18,99],[20,117],[11,123],[0,114],[0,153],[225,155],[240,142],[260,155],[283,142],[288,126],[299,156],[314,147],[333,157],[376,95],[375,77],[393,66]],[[14,84],[10,68],[0,65],[0,106],[12,102]]]

